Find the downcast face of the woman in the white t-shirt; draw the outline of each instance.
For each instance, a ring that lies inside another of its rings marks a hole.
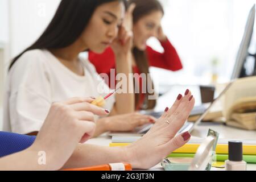
[[[81,35],[82,42],[93,52],[104,52],[117,37],[124,16],[122,2],[113,1],[98,6]]]

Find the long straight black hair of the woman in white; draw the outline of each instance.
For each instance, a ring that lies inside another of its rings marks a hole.
[[[86,28],[96,8],[104,3],[126,0],[61,0],[46,30],[38,40],[16,56],[9,70],[23,53],[33,49],[58,49],[74,43]]]

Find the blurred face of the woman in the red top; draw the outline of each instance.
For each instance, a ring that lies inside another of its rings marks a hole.
[[[143,16],[133,26],[134,46],[144,51],[147,47],[146,42],[152,36],[158,35],[161,26],[162,11],[152,11],[152,13]]]

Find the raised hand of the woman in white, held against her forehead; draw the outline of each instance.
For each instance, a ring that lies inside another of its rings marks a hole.
[[[126,55],[133,45],[133,11],[135,4],[130,5],[126,11],[125,19],[119,27],[117,38],[112,43],[112,49],[115,55]]]

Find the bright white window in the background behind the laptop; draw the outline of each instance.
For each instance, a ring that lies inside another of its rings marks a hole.
[[[160,0],[161,1],[161,0]],[[163,29],[177,49],[184,69],[151,68],[154,81],[164,84],[209,84],[212,73],[228,81],[242,40],[247,15],[255,0],[162,0]],[[162,51],[155,39],[148,44]],[[256,47],[255,39],[251,50]],[[161,78],[161,79],[160,79]]]

